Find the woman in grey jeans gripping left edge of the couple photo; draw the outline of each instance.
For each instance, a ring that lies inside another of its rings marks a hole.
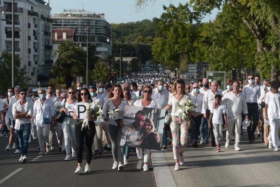
[[[108,116],[108,110],[119,109],[116,119],[105,117],[108,122],[108,134],[112,143],[113,167],[112,169],[123,169],[123,146],[120,146],[120,138],[122,135],[123,116],[125,113],[125,105],[129,105],[124,99],[122,88],[119,84],[114,85],[112,91],[108,95],[108,100],[103,106],[102,114]]]

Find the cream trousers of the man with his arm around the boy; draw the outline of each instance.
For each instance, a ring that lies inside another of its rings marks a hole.
[[[239,146],[240,142],[240,130],[241,130],[241,115],[238,118],[227,117],[227,133],[226,140],[231,141],[232,130],[235,129],[235,143],[234,146]]]

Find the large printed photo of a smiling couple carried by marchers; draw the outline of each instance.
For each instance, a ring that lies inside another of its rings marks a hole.
[[[125,106],[120,145],[161,150],[165,110]]]

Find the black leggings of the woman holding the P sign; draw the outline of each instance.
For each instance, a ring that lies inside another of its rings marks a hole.
[[[81,163],[83,160],[83,147],[84,147],[84,138],[85,138],[85,145],[87,150],[87,163],[90,164],[91,157],[92,157],[92,143],[93,138],[95,136],[95,123],[94,121],[89,121],[89,127],[83,130],[82,128],[83,122],[76,124],[75,126],[75,136],[76,136],[76,144],[77,144],[77,162]]]

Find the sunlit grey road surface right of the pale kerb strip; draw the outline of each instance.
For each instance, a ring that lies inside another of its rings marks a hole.
[[[174,171],[173,152],[168,146],[164,155],[177,186],[280,186],[280,151],[274,152],[264,146],[261,137],[248,144],[244,130],[241,151],[234,150],[233,142],[225,149],[225,136],[221,145],[220,153],[206,144],[191,148],[188,137],[188,146],[183,153],[185,165],[180,171]]]

